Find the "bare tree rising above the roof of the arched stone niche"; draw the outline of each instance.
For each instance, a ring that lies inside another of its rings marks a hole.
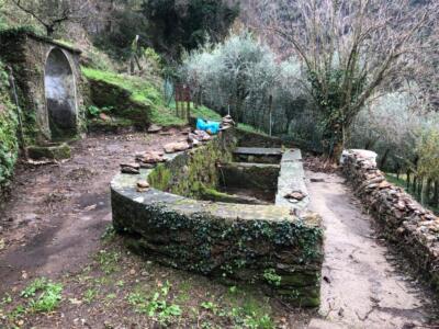
[[[52,36],[67,21],[79,21],[87,16],[90,0],[10,0],[21,11],[31,15]]]

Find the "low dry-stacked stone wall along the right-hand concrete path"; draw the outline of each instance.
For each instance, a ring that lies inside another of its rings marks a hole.
[[[419,205],[403,189],[385,180],[376,168],[376,154],[344,154],[342,171],[365,207],[382,225],[412,264],[439,290],[439,217]],[[435,284],[436,283],[436,284]]]

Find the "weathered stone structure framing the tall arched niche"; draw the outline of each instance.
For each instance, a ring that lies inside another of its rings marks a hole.
[[[86,128],[82,94],[87,90],[87,83],[79,69],[80,52],[25,30],[0,33],[0,58],[13,69],[27,145],[52,139],[44,72],[46,59],[54,48],[60,49],[70,64],[76,82],[77,131],[82,132]]]

